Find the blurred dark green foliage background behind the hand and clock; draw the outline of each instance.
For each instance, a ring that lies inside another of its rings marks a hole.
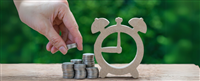
[[[82,58],[92,52],[100,33],[91,33],[95,18],[104,17],[110,25],[115,18],[142,17],[147,33],[139,32],[144,43],[143,64],[200,65],[200,1],[199,0],[69,0],[69,6],[83,36],[83,51],[70,49],[66,55],[46,51],[48,40],[22,23],[12,0],[1,0],[1,63],[62,63]],[[106,54],[109,63],[129,63],[135,56],[135,41],[121,34],[122,53]],[[117,45],[117,33],[109,35],[103,46]]]

